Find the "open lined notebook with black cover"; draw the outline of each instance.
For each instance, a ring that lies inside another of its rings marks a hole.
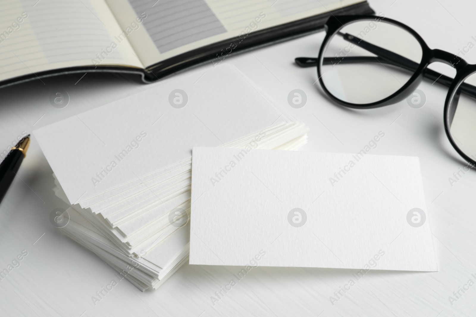
[[[322,29],[362,0],[2,0],[0,86],[97,71],[151,82]]]

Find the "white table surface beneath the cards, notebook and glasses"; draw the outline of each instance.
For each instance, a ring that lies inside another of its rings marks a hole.
[[[370,4],[376,12],[416,29],[431,48],[457,53],[469,41],[474,43],[476,6],[472,1],[394,1],[370,0]],[[240,268],[186,264],[156,291],[141,293],[123,280],[94,306],[91,297],[116,279],[115,271],[51,225],[50,212],[66,205],[51,190],[52,171],[33,137],[20,177],[0,205],[0,270],[22,250],[28,251],[20,267],[0,281],[0,315],[476,316],[476,285],[461,292],[453,305],[448,300],[469,279],[476,282],[471,276],[476,275],[476,172],[466,173],[453,186],[448,182],[466,163],[447,141],[441,125],[446,89],[422,83],[419,89],[427,101],[420,109],[409,107],[406,101],[366,111],[336,106],[313,85],[316,69],[293,63],[298,56],[316,56],[323,36],[298,38],[229,57],[226,62],[284,105],[292,89],[306,92],[306,106],[289,109],[310,127],[308,144],[302,150],[355,153],[378,131],[384,131],[373,154],[418,156],[439,272],[370,271],[332,305],[329,297],[347,283],[354,270],[258,267],[212,305],[210,296]],[[476,63],[476,48],[465,58]],[[211,63],[200,69],[206,73],[210,67]],[[114,75],[87,74],[76,83],[80,76],[1,89],[2,150],[23,130],[31,132],[151,87]],[[70,96],[64,109],[49,102],[51,91],[58,88]]]

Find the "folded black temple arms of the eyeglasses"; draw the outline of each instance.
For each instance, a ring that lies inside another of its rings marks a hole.
[[[389,64],[397,67],[407,69],[409,71],[416,71],[419,64],[412,61],[411,59],[405,58],[399,54],[391,52],[385,48],[378,47],[371,43],[364,41],[363,39],[356,38],[353,35],[348,33],[344,34],[337,32],[337,35],[340,35],[348,42],[351,42],[361,48],[366,49],[367,51],[377,55],[377,57],[371,56],[352,56],[352,57],[336,57],[336,58],[324,58],[323,65],[336,65],[336,64],[352,64],[352,63],[362,63],[362,62],[375,62]],[[345,53],[344,53],[345,54]],[[312,67],[317,66],[317,58],[296,58],[295,62],[300,67]],[[438,84],[449,87],[453,82],[453,78],[447,77],[443,74],[440,74],[434,70],[425,68],[423,71],[423,76]],[[466,95],[476,98],[476,87],[466,83],[461,84],[461,92]]]

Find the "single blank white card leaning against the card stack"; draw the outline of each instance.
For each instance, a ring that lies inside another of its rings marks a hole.
[[[194,147],[190,264],[437,271],[418,158],[362,155]]]

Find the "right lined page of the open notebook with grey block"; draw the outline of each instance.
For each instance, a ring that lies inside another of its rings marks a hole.
[[[362,0],[106,0],[122,27],[147,14],[129,40],[150,66],[189,50],[336,10]],[[259,22],[257,22],[259,20]],[[239,45],[239,39],[235,42]]]

